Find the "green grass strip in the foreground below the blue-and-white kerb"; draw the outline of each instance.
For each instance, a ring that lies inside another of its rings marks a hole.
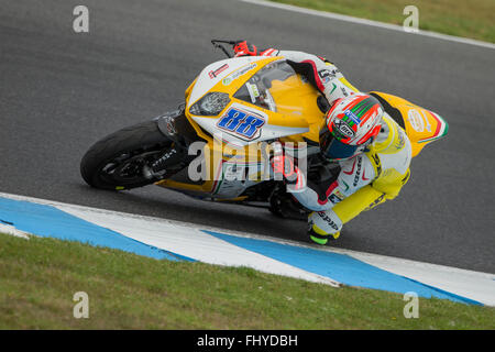
[[[89,318],[75,319],[76,292]],[[495,309],[0,234],[0,329],[495,329]]]

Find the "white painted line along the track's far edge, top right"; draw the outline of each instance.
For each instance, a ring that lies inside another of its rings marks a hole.
[[[282,9],[282,10],[299,12],[299,13],[305,13],[305,14],[311,14],[311,15],[318,15],[321,18],[327,18],[327,19],[332,19],[332,20],[338,20],[338,21],[345,21],[345,22],[351,22],[351,23],[356,23],[356,24],[376,26],[376,28],[381,28],[381,29],[403,32],[404,34],[407,34],[407,35],[424,35],[424,36],[435,37],[438,40],[457,42],[457,43],[469,44],[469,45],[476,45],[476,46],[495,50],[495,44],[492,44],[488,42],[482,42],[482,41],[471,40],[471,38],[466,38],[466,37],[441,34],[441,33],[429,32],[429,31],[421,31],[421,30],[419,30],[416,33],[409,33],[409,32],[404,31],[404,28],[402,25],[383,23],[383,22],[365,20],[365,19],[359,19],[359,18],[354,18],[351,15],[345,15],[345,14],[338,14],[338,13],[333,13],[333,12],[326,12],[326,11],[299,8],[299,7],[296,7],[293,4],[285,4],[285,3],[265,1],[265,0],[240,0],[240,1],[258,4],[258,6],[263,6],[263,7],[268,7],[268,8]]]

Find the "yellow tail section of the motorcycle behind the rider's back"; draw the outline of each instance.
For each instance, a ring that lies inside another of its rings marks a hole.
[[[376,94],[389,105],[388,107],[384,106],[388,114],[395,116],[395,119],[402,119],[411,143],[413,157],[418,155],[428,143],[447,135],[448,123],[433,111],[393,95],[378,91],[373,91],[373,94]]]

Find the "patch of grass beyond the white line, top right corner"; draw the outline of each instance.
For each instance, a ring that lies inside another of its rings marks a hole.
[[[402,25],[406,6],[419,10],[419,29],[495,43],[494,0],[272,0]]]

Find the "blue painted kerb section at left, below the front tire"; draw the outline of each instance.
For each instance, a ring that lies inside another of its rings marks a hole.
[[[194,261],[127,238],[116,231],[85,221],[52,206],[0,198],[0,221],[13,224],[21,231],[40,237],[107,246],[157,260]]]

